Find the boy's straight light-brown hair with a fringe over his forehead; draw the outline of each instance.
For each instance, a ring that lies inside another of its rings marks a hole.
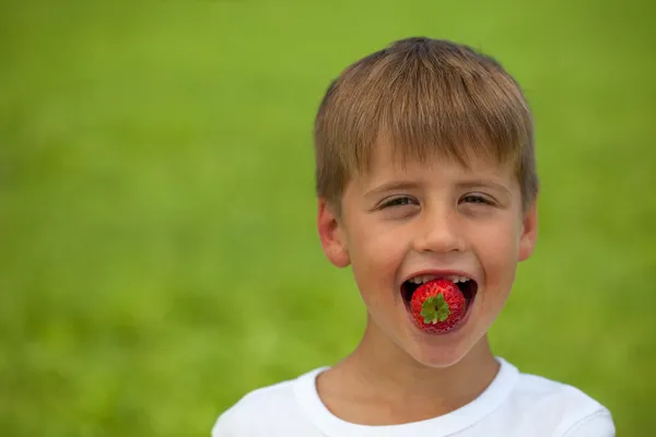
[[[337,209],[384,137],[401,160],[512,165],[526,206],[538,192],[534,128],[517,82],[493,58],[448,40],[407,38],[349,66],[315,120],[316,191]]]

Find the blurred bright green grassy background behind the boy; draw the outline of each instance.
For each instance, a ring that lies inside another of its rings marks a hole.
[[[536,115],[539,244],[495,352],[653,433],[655,8],[572,3],[0,2],[0,435],[208,436],[349,353],[364,310],[316,237],[313,118],[417,35],[499,58]]]

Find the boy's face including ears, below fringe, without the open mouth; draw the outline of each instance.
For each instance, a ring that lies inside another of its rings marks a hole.
[[[402,167],[380,144],[371,170],[348,184],[340,217],[319,201],[325,252],[338,267],[352,265],[372,331],[430,367],[457,363],[484,336],[537,235],[536,208],[523,211],[512,168],[483,160],[469,167],[443,160]],[[444,272],[476,281],[477,293],[459,329],[425,333],[401,290],[418,274]]]

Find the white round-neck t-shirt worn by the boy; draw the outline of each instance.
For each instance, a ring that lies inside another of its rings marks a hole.
[[[481,395],[426,421],[366,426],[337,417],[316,390],[321,367],[246,394],[219,416],[212,437],[614,437],[610,412],[581,390],[497,361]]]

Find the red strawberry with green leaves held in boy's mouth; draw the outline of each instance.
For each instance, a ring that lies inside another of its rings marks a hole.
[[[446,333],[465,317],[467,302],[460,288],[446,279],[422,284],[410,299],[417,326],[424,332]]]

